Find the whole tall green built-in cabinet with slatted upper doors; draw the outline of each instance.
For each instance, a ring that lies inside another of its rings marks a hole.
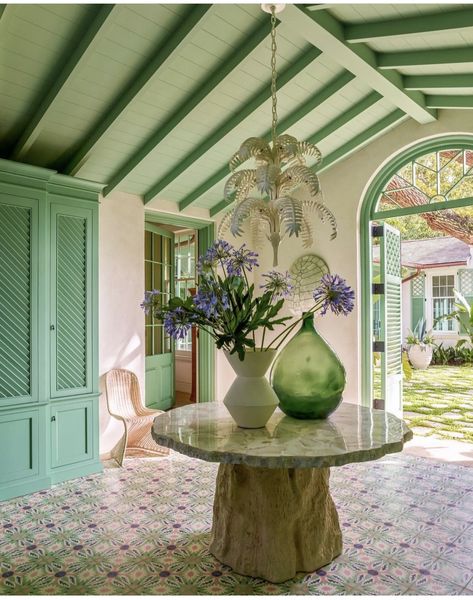
[[[101,470],[100,190],[0,160],[0,500]]]

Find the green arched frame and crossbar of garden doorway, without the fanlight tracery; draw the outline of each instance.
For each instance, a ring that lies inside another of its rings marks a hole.
[[[433,212],[447,208],[444,203],[429,204],[428,208],[409,207],[396,208],[389,211],[376,211],[379,196],[389,179],[407,162],[427,154],[458,148],[473,150],[473,135],[450,134],[422,140],[401,150],[383,165],[372,178],[363,197],[360,212],[360,292],[361,292],[361,398],[364,406],[371,406],[372,398],[372,302],[371,302],[371,223],[389,217],[404,217],[406,215]],[[473,198],[450,200],[448,208],[473,206]]]

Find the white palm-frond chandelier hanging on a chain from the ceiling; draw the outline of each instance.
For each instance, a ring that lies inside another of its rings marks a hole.
[[[319,178],[306,165],[306,156],[314,159],[313,166],[320,164],[320,150],[291,135],[277,135],[276,14],[284,6],[261,5],[271,14],[271,141],[250,137],[230,159],[232,175],[225,184],[224,198],[228,202],[234,200],[235,205],[219,227],[219,236],[229,229],[234,236],[241,236],[243,222],[249,221],[256,246],[261,246],[264,237],[271,242],[273,266],[278,265],[279,245],[286,235],[300,236],[305,248],[313,244],[313,214],[322,222],[329,222],[331,239],[337,235],[335,217],[322,202]],[[254,168],[237,170],[248,160],[253,160]]]

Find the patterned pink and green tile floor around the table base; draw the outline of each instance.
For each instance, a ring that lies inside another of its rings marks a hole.
[[[0,503],[0,594],[473,595],[473,469],[392,455],[333,469],[333,563],[284,584],[208,552],[217,466],[129,459]]]

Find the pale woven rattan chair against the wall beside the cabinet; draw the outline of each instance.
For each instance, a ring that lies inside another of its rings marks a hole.
[[[126,369],[112,369],[105,375],[108,412],[122,421],[125,431],[111,451],[120,466],[127,449],[150,455],[166,456],[168,448],[158,446],[151,437],[153,419],[162,410],[150,410],[141,403],[138,377]]]

